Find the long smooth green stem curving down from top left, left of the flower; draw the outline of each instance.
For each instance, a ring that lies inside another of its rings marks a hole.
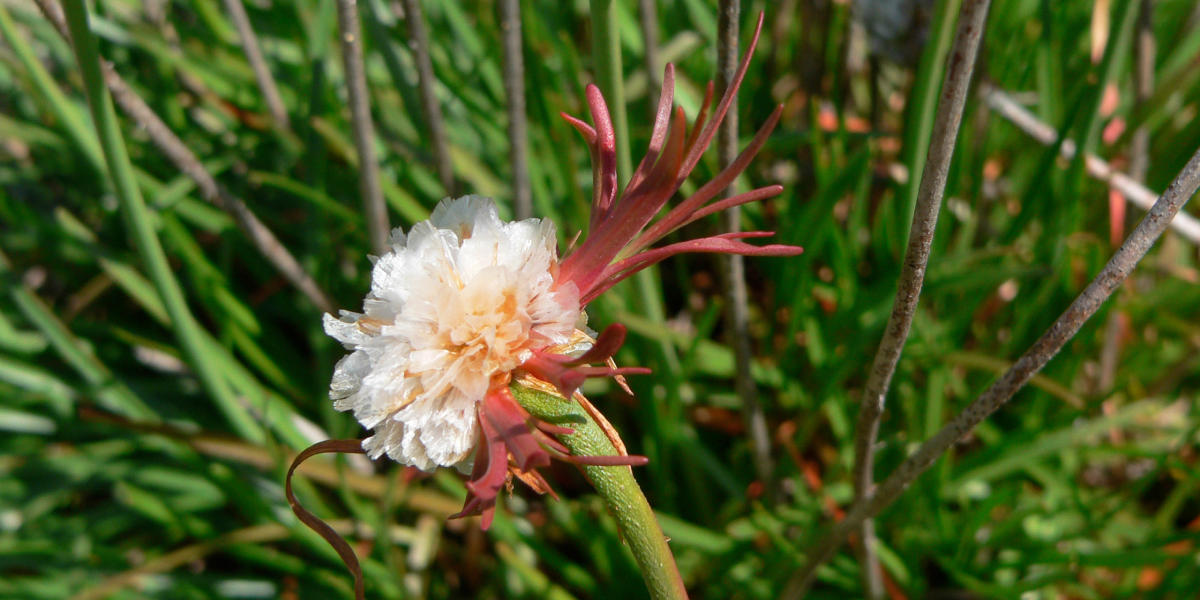
[[[88,25],[88,11],[83,0],[66,0],[64,10],[71,29],[71,40],[74,42],[76,61],[79,64],[79,71],[83,76],[84,91],[88,95],[88,106],[91,108],[96,137],[100,139],[108,175],[116,191],[130,238],[133,239],[138,254],[145,263],[146,272],[167,307],[175,336],[204,389],[212,396],[242,438],[262,443],[265,439],[262,427],[230,392],[228,382],[216,367],[215,360],[205,352],[199,324],[192,317],[184,299],[184,292],[167,263],[167,254],[163,253],[162,245],[158,244],[150,211],[146,210],[145,202],[142,199],[142,192],[138,190],[133,174],[133,164],[125,149],[125,139],[121,137],[121,130],[116,122],[113,101],[101,76],[100,46]]]

